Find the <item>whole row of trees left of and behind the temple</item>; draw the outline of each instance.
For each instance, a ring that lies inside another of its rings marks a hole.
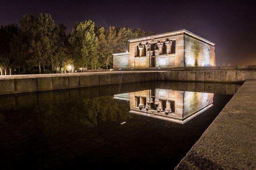
[[[155,34],[140,28],[109,26],[105,30],[91,20],[76,23],[70,33],[66,29],[48,13],[24,15],[19,25],[1,26],[1,75],[64,73],[68,66],[109,69],[113,53],[129,50],[127,40]]]

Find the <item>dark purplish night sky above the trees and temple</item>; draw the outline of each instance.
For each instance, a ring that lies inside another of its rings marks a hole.
[[[0,25],[19,24],[24,14],[50,13],[69,32],[75,22],[142,28],[156,33],[186,29],[215,43],[216,65],[256,65],[254,1],[37,1],[0,0]]]

